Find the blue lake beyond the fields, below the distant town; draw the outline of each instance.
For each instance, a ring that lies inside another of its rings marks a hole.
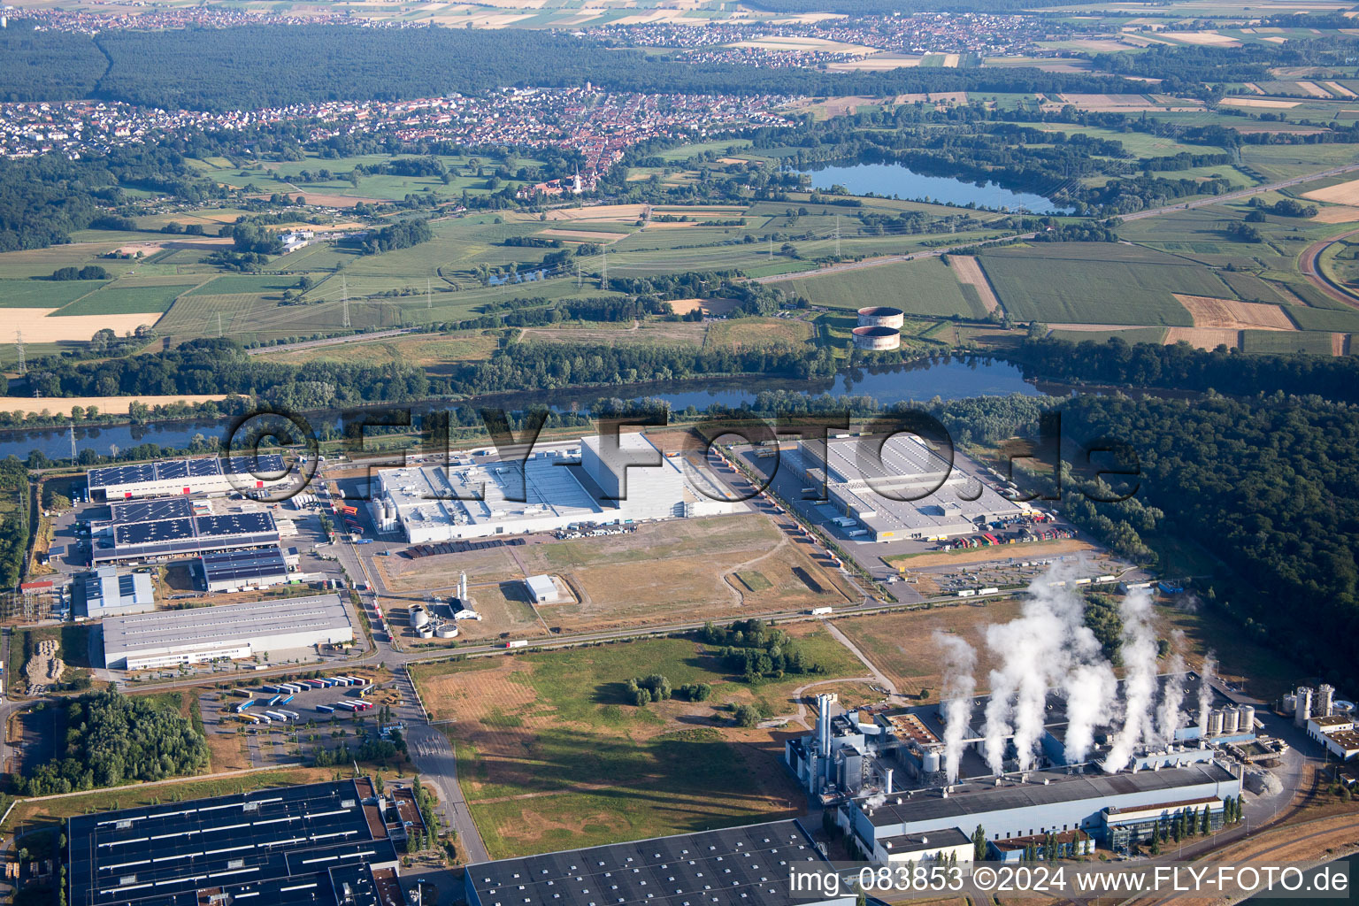
[[[951,177],[927,177],[900,163],[851,163],[800,171],[811,177],[815,189],[829,190],[841,185],[849,194],[886,196],[909,201],[942,201],[955,205],[976,204],[978,208],[999,211],[1025,209],[1030,213],[1068,213],[1049,198],[1031,192],[1014,192],[995,182],[977,185]]]

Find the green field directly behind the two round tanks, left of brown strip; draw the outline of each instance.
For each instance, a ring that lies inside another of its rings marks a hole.
[[[896,306],[913,315],[985,318],[980,299],[969,300],[946,264],[938,258],[863,268],[825,277],[809,276],[773,284],[814,306],[858,310]]]

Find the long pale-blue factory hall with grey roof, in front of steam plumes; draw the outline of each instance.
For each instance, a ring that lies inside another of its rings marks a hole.
[[[1207,808],[1210,826],[1220,827],[1224,801],[1239,795],[1241,780],[1216,761],[1116,774],[1030,772],[848,800],[837,820],[875,861],[887,861],[901,838],[970,838],[978,826],[998,856],[1010,858],[1012,848],[1048,834],[1065,835],[1076,852],[1086,852],[1086,838],[1123,850],[1190,808],[1196,815]]]

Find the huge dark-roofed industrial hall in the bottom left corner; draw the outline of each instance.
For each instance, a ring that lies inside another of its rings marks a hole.
[[[71,906],[405,906],[397,805],[367,777],[75,815]]]

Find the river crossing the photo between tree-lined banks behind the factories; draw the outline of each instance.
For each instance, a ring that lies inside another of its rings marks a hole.
[[[588,387],[571,391],[549,391],[534,394],[500,394],[484,397],[473,403],[523,409],[529,405],[548,405],[559,410],[572,406],[588,407],[601,398],[621,399],[665,399],[675,412],[689,406],[707,409],[712,405],[733,409],[754,402],[762,391],[783,390],[811,397],[830,394],[832,397],[874,397],[878,402],[920,401],[932,397],[962,399],[966,397],[1007,397],[1025,394],[1045,395],[1042,390],[1029,383],[1023,372],[1004,361],[988,359],[949,359],[942,363],[920,363],[913,365],[893,365],[874,371],[841,374],[834,380],[760,380],[753,378],[726,378],[715,380],[667,382],[656,384],[629,384],[628,387]],[[416,410],[435,407],[435,403],[419,403]],[[370,409],[378,409],[370,406]],[[322,413],[308,421],[314,425],[326,418],[342,421],[338,413]],[[223,436],[228,421],[173,421],[149,425],[107,425],[76,428],[76,451],[94,450],[102,455],[110,452],[110,446],[126,450],[141,443],[156,443],[162,447],[188,447],[194,435],[204,437]],[[0,431],[0,458],[14,454],[19,459],[29,452],[41,450],[52,459],[71,458],[71,435],[67,431]]]

